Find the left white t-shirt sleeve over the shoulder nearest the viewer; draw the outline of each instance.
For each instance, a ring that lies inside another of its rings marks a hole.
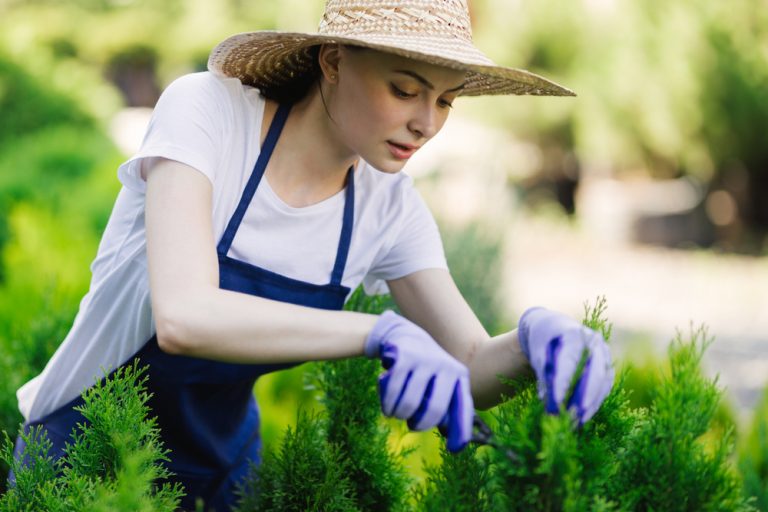
[[[144,192],[141,160],[164,157],[198,170],[211,183],[216,178],[218,155],[224,151],[231,103],[226,87],[210,73],[193,73],[173,81],[152,112],[139,151],[117,171],[127,188]]]

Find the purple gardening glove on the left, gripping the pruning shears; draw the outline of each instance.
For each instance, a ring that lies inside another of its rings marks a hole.
[[[448,450],[464,448],[472,436],[475,409],[469,370],[421,327],[385,311],[365,341],[365,355],[380,357],[381,409],[408,420],[412,430],[438,424],[448,431]]]

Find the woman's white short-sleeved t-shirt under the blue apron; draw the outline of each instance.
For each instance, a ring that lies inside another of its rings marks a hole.
[[[19,409],[35,421],[77,397],[102,368],[126,362],[155,333],[147,275],[140,160],[188,164],[213,184],[213,229],[221,238],[259,154],[264,98],[208,72],[174,81],[158,101],[139,152],[118,169],[123,184],[72,329],[43,372],[22,386]],[[290,278],[327,284],[341,233],[345,191],[311,206],[283,202],[262,178],[230,256]],[[447,268],[440,234],[411,178],[360,162],[355,218],[342,284],[386,292],[389,279]]]

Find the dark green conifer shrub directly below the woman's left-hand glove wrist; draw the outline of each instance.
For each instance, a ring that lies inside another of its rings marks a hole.
[[[361,288],[345,309],[380,313],[388,298]],[[316,363],[310,377],[326,414],[300,414],[281,445],[267,449],[241,489],[238,510],[405,510],[410,483],[402,460],[391,453],[382,421],[376,360]],[[318,487],[308,488],[308,483]],[[336,487],[336,492],[328,489]]]

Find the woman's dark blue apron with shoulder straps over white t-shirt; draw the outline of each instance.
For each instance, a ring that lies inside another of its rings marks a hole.
[[[341,280],[354,223],[352,167],[347,172],[344,217],[329,284],[291,279],[227,255],[289,112],[289,105],[278,108],[240,202],[216,248],[219,287],[291,304],[340,310],[350,291],[341,285]],[[247,474],[249,462],[259,461],[259,413],[253,396],[254,383],[260,375],[296,363],[234,364],[170,355],[160,350],[155,336],[136,357],[142,365],[149,365],[149,406],[151,414],[157,416],[163,443],[171,450],[167,466],[176,474],[173,480],[181,482],[187,493],[182,508],[194,510],[195,499],[201,497],[206,510],[229,510],[235,504],[236,484]],[[70,432],[77,422],[84,421],[73,410],[81,403],[78,397],[41,420],[25,425],[25,429],[43,425],[53,442],[52,455],[60,457]],[[22,449],[19,438],[17,457]]]

